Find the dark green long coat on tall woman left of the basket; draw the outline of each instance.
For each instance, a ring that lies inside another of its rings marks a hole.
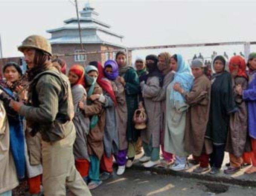
[[[136,70],[132,67],[129,68],[124,77],[125,85],[125,98],[127,104],[127,132],[126,138],[129,142],[135,142],[138,139],[138,131],[134,127],[133,115],[138,108],[138,94],[140,92],[139,77]]]

